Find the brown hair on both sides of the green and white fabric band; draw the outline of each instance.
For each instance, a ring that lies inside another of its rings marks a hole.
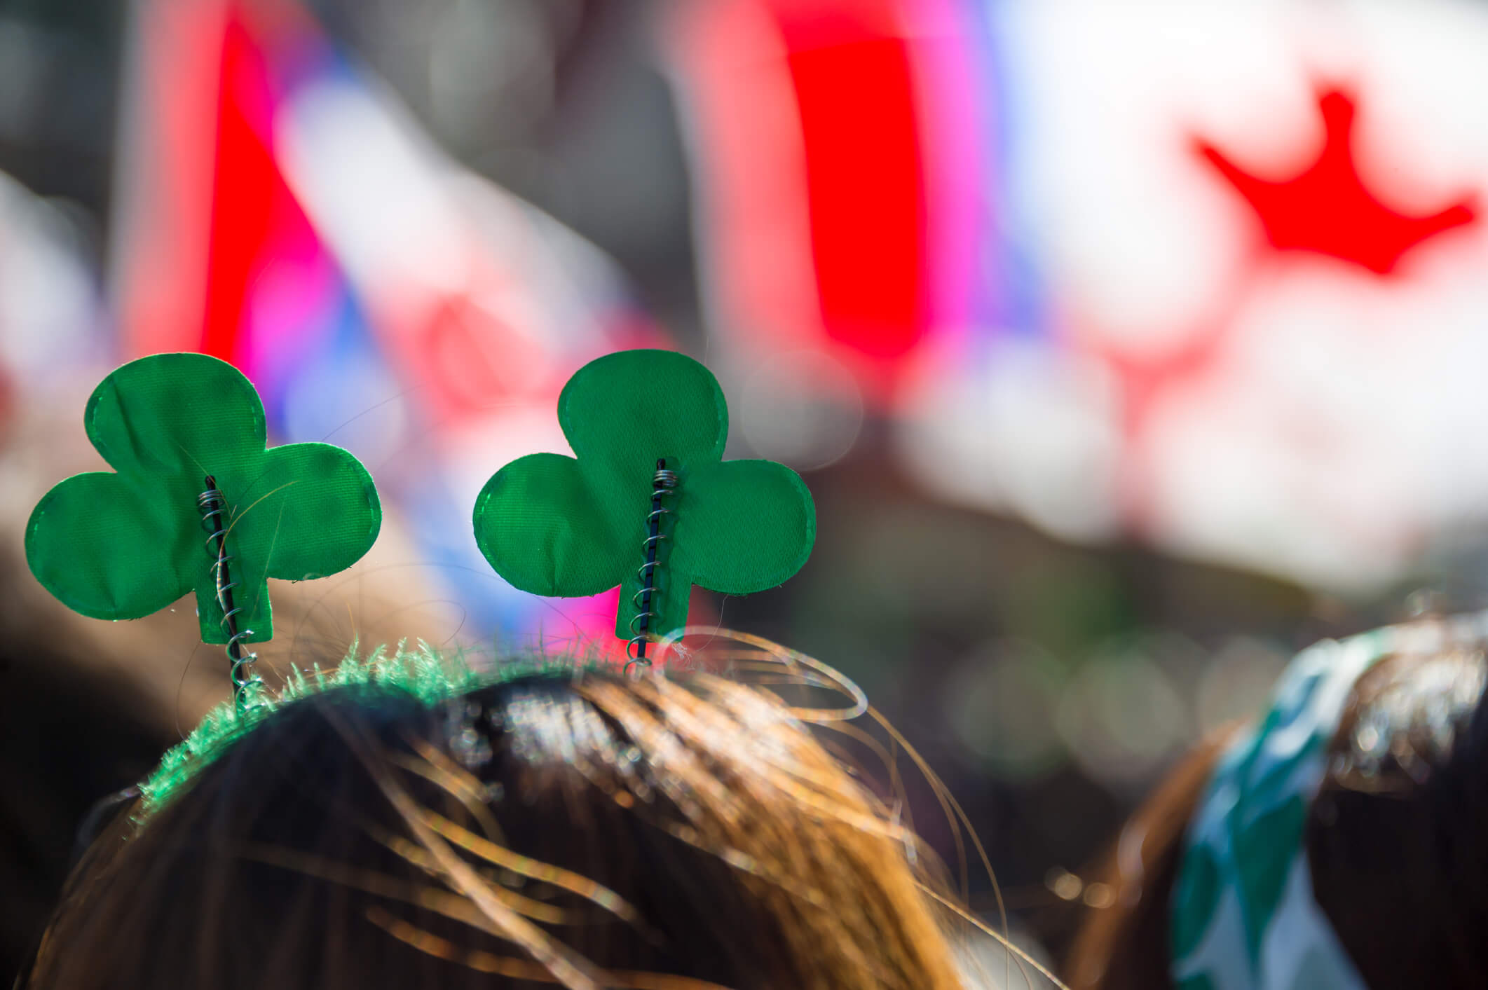
[[[1484,653],[1384,657],[1353,685],[1308,810],[1318,905],[1373,990],[1481,987],[1488,975],[1488,708]],[[1076,990],[1171,987],[1168,907],[1183,835],[1229,733],[1131,818],[1070,954]]]

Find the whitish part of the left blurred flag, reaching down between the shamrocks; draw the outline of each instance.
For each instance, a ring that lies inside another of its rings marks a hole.
[[[470,541],[469,507],[500,465],[570,452],[554,409],[574,370],[662,342],[616,265],[454,162],[390,92],[347,65],[289,92],[274,150],[402,385],[371,412],[375,391],[363,388],[359,410],[330,419],[360,416],[384,437],[391,452],[373,471],[379,483],[400,476],[387,488],[403,496],[421,553],[445,568],[464,621],[613,639],[613,604],[595,621],[588,599],[551,604],[498,581]],[[418,425],[408,436],[387,428],[409,421]]]

